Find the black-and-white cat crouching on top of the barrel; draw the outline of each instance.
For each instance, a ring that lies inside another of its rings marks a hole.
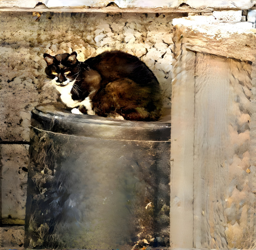
[[[103,52],[84,62],[77,53],[44,54],[46,74],[72,113],[126,120],[154,121],[162,95],[153,72],[136,56]]]

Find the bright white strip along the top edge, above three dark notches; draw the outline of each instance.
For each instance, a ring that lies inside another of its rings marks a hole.
[[[171,7],[177,8],[182,3],[188,4],[191,8],[244,8],[249,9],[252,8],[255,4],[255,0],[227,0],[227,1],[212,1],[212,0],[29,0],[29,1],[21,1],[21,0],[5,0],[0,3],[0,7],[26,7],[33,8],[36,6],[38,2],[44,3],[47,7],[56,7],[56,6],[90,6],[90,7],[105,7],[109,3],[114,2],[119,6],[119,8],[130,8],[130,7]]]

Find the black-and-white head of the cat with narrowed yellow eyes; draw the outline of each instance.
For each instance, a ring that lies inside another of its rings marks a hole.
[[[52,79],[52,83],[65,86],[68,83],[74,81],[79,72],[80,62],[77,60],[77,53],[72,54],[59,54],[51,56],[44,54],[44,58],[47,63],[45,72],[49,79]]]

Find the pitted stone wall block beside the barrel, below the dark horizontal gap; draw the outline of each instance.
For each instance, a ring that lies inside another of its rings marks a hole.
[[[2,223],[24,224],[28,145],[2,144],[0,150]]]

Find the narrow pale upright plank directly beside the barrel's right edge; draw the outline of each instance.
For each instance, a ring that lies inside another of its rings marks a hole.
[[[170,243],[172,248],[192,248],[195,54],[178,49],[176,59],[172,92]]]

